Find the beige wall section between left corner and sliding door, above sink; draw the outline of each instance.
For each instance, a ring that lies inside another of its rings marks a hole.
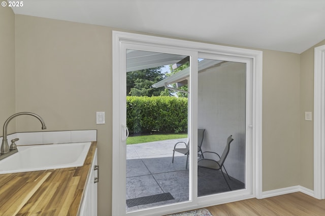
[[[16,15],[17,112],[39,114],[47,130],[98,130],[99,215],[110,215],[112,188],[112,37],[95,25]],[[96,125],[95,112],[106,112]],[[39,131],[17,118],[17,131]]]

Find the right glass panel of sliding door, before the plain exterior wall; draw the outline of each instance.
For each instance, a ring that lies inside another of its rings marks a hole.
[[[246,63],[199,60],[198,127],[198,197],[245,189]]]

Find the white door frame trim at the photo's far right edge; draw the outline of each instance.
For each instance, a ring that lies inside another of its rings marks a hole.
[[[314,52],[314,197],[325,199],[325,45]]]

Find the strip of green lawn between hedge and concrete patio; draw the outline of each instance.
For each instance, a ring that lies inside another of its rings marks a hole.
[[[153,141],[159,141],[159,140],[167,140],[167,139],[180,139],[180,138],[186,138],[186,137],[187,137],[187,133],[129,136],[126,139],[126,145],[143,143],[143,142],[153,142]]]

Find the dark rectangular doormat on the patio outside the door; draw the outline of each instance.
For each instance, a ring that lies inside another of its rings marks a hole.
[[[146,204],[150,204],[150,203],[167,201],[167,200],[172,200],[172,199],[175,199],[175,198],[170,193],[156,194],[156,195],[151,195],[151,196],[146,196],[146,197],[127,199],[126,205],[127,205],[127,207],[133,207],[133,206],[137,206],[137,205],[146,205]]]

